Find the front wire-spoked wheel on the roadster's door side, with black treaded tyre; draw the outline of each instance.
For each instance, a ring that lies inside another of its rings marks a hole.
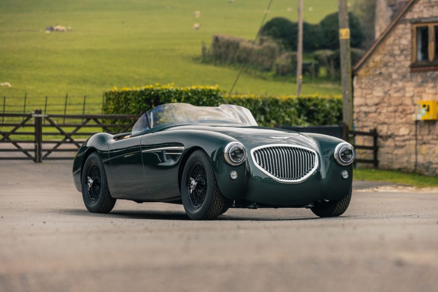
[[[181,198],[187,215],[193,220],[216,219],[226,206],[210,158],[201,150],[193,152],[184,166]]]

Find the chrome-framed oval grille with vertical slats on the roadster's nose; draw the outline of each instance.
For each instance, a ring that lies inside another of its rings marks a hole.
[[[315,150],[292,144],[268,144],[253,148],[251,158],[260,171],[281,183],[300,183],[318,168]]]

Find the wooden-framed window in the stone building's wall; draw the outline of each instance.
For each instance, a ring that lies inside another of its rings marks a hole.
[[[418,66],[438,64],[438,23],[418,23],[413,26],[412,63]]]

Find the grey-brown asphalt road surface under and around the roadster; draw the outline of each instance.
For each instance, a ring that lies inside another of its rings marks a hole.
[[[89,213],[71,162],[0,161],[0,291],[438,291],[438,193],[359,190],[339,218],[118,201]],[[372,184],[365,184],[370,187]]]

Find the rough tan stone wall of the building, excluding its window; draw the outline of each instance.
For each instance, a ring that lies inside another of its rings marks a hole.
[[[404,19],[437,16],[438,0],[419,0]],[[377,128],[379,168],[414,171],[417,144],[417,171],[437,175],[438,124],[416,125],[413,116],[417,101],[438,100],[438,71],[411,72],[411,53],[412,24],[402,20],[355,72],[354,121],[358,131]],[[360,137],[356,142],[371,145]]]

